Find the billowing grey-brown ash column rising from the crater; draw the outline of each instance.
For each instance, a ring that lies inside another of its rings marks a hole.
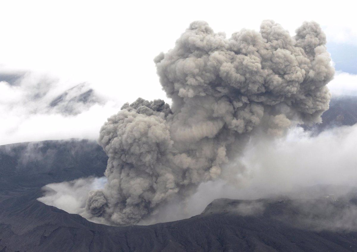
[[[291,37],[267,20],[260,32],[243,29],[230,39],[193,22],[154,60],[172,107],[139,98],[101,128],[108,182],[89,193],[87,211],[117,225],[136,223],[218,178],[258,125],[279,135],[292,120],[320,122],[334,74],[325,43],[315,22]]]

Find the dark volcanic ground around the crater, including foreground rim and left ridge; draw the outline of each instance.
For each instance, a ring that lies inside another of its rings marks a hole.
[[[107,158],[93,142],[0,146],[0,160],[2,252],[357,250],[356,232],[311,229],[304,209],[321,206],[317,201],[220,199],[186,220],[128,227],[95,224],[37,201],[48,183],[102,175]],[[327,217],[356,204],[323,201],[333,209]],[[314,218],[326,220],[326,212]]]

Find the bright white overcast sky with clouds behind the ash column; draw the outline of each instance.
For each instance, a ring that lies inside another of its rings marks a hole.
[[[1,1],[0,73],[31,71],[36,76],[32,82],[45,74],[55,80],[49,82],[55,82],[58,94],[88,82],[106,102],[73,116],[48,113],[35,107],[55,91],[47,100],[31,103],[25,95],[32,90],[29,79],[22,83],[27,91],[0,79],[0,144],[95,139],[122,103],[137,97],[165,99],[153,58],[172,48],[194,20],[207,21],[227,37],[242,28],[259,30],[264,19],[275,20],[291,34],[303,21],[315,20],[336,61],[332,93],[356,95],[357,19],[351,2]]]

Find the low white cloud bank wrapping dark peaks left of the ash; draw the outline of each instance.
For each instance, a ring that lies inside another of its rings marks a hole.
[[[89,83],[43,73],[0,71],[0,145],[96,139],[102,122],[119,107]]]

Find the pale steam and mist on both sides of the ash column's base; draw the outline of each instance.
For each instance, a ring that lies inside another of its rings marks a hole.
[[[357,181],[357,125],[326,130],[312,137],[302,128],[289,130],[286,137],[271,139],[257,135],[242,154],[244,170],[230,176],[235,180],[217,179],[197,187],[184,201],[172,200],[142,225],[189,218],[200,214],[215,199],[260,199],[272,195],[297,195],[303,187],[318,184],[355,186]],[[232,169],[231,169],[232,171]],[[236,181],[236,182],[233,182]],[[39,200],[72,214],[81,214],[91,221],[105,223],[85,213],[87,193],[104,187],[104,178],[82,178],[73,182],[50,184]]]

